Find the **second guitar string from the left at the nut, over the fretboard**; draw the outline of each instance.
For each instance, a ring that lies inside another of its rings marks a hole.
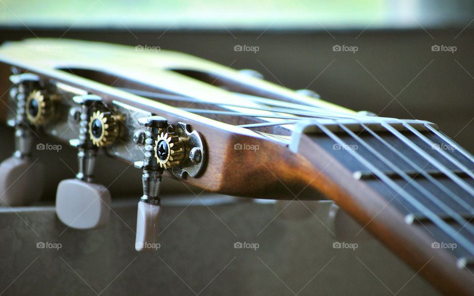
[[[369,150],[373,155],[375,155],[379,160],[381,160],[384,164],[388,165],[391,169],[393,169],[400,177],[402,177],[406,182],[408,182],[411,186],[416,188],[420,193],[422,193],[425,197],[427,197],[431,202],[433,202],[438,208],[443,211],[447,210],[447,214],[450,215],[456,222],[458,222],[461,226],[466,226],[466,230],[474,234],[474,226],[470,225],[468,221],[466,221],[461,215],[459,215],[454,209],[449,207],[446,203],[444,203],[439,198],[435,197],[431,192],[426,190],[422,185],[420,185],[414,178],[410,178],[402,169],[397,167],[393,162],[389,161],[386,157],[381,155],[378,151],[376,151],[371,145],[369,145],[366,141],[361,139],[358,135],[354,132],[349,130],[342,124],[338,125],[351,135],[357,142],[362,144],[367,150]]]

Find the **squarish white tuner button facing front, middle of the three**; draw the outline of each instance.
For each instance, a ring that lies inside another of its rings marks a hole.
[[[76,229],[104,226],[110,216],[109,190],[101,184],[79,179],[63,180],[56,193],[56,214],[59,220]]]

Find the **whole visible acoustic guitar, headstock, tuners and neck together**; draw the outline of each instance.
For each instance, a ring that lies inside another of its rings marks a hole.
[[[78,150],[77,177],[56,195],[72,228],[109,218],[110,193],[93,177],[102,151],[143,171],[138,251],[156,249],[164,176],[241,197],[332,199],[442,293],[474,295],[474,158],[433,123],[140,46],[9,42],[0,77],[0,118],[15,128],[15,153],[0,164],[5,206],[40,196],[31,153],[44,134]]]

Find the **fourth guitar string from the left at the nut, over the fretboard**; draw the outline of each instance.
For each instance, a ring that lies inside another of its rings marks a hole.
[[[463,188],[467,193],[474,196],[474,189],[468,183],[466,183],[463,179],[461,179],[456,174],[454,174],[450,169],[448,169],[446,166],[438,162],[434,157],[429,155],[427,152],[421,149],[418,145],[416,145],[413,141],[405,137],[401,132],[398,132],[397,130],[395,130],[389,124],[382,122],[382,126],[386,130],[392,132],[397,138],[399,138],[402,142],[404,142],[406,145],[412,148],[415,152],[417,152],[420,156],[422,156],[428,162],[433,164],[437,169],[442,171],[446,176],[448,176],[451,180],[453,180],[456,184],[458,184],[461,188]]]

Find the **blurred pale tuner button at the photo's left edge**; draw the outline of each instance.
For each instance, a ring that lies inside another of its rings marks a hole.
[[[10,157],[0,164],[0,205],[26,205],[38,200],[43,187],[39,161]]]

